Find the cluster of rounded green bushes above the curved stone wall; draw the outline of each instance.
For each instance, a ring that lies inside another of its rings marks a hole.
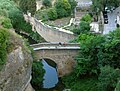
[[[48,4],[49,0],[43,1],[45,1]],[[67,17],[71,16],[71,13],[73,13],[75,6],[75,0],[56,0],[53,7],[38,10],[35,16],[36,18],[41,19],[43,21]]]

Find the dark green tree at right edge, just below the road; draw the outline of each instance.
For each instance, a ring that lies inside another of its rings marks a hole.
[[[110,65],[120,68],[120,29],[106,35],[106,42],[98,53],[98,61],[102,66]]]

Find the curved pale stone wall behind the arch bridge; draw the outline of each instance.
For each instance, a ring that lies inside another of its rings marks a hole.
[[[24,18],[47,42],[68,42],[75,38],[72,32],[44,24],[30,15],[24,15]]]

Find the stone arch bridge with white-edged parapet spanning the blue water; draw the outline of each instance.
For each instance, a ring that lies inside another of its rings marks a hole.
[[[57,64],[58,76],[70,73],[75,66],[75,57],[80,49],[75,43],[40,43],[31,45],[36,59],[50,59]]]

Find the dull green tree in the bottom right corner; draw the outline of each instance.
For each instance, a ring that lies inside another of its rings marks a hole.
[[[98,91],[114,91],[118,81],[120,80],[120,69],[114,69],[110,66],[101,67],[99,82],[97,84]]]

